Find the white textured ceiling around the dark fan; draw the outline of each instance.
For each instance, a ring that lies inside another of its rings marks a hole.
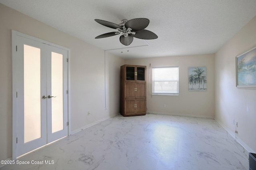
[[[256,0],[0,0],[36,20],[123,58],[215,53],[256,16]],[[119,24],[123,19],[148,18],[146,28],[156,40],[127,46],[94,19]],[[148,45],[149,44],[149,45]],[[141,47],[134,47],[141,46]],[[121,53],[123,51],[123,53]]]

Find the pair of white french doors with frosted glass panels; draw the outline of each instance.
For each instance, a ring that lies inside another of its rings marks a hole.
[[[22,36],[15,42],[18,157],[68,135],[68,51]]]

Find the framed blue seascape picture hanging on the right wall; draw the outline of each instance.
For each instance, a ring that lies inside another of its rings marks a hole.
[[[236,56],[236,87],[256,89],[256,47]]]

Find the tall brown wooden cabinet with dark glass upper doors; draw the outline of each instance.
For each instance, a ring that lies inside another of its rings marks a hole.
[[[121,114],[146,115],[146,66],[121,66]]]

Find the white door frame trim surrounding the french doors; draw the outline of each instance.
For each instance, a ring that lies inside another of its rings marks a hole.
[[[16,160],[17,158],[17,144],[16,144],[16,138],[17,138],[17,101],[16,101],[16,92],[17,92],[17,85],[18,85],[18,76],[17,76],[17,70],[19,67],[19,63],[17,63],[17,59],[16,57],[16,44],[17,44],[17,40],[16,37],[20,36],[20,37],[24,37],[30,40],[34,40],[40,43],[45,43],[47,45],[51,45],[53,47],[57,47],[60,49],[64,49],[66,51],[68,51],[68,136],[71,134],[71,126],[70,126],[70,49],[66,48],[66,47],[62,47],[60,45],[51,43],[51,42],[47,42],[45,40],[41,40],[39,38],[35,38],[32,36],[28,36],[26,34],[17,32],[12,30],[12,160]]]

